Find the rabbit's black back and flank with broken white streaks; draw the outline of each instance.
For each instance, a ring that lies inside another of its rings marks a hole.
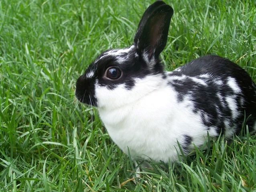
[[[244,115],[249,131],[256,129],[256,87],[235,63],[218,56],[200,57],[167,75],[179,103],[189,101],[207,129],[230,137],[240,133]]]

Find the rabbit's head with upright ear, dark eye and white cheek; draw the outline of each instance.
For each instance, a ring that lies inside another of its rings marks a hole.
[[[82,103],[115,108],[134,102],[165,79],[159,59],[165,48],[173,9],[156,1],[144,12],[134,43],[104,51],[77,79],[75,95]]]

